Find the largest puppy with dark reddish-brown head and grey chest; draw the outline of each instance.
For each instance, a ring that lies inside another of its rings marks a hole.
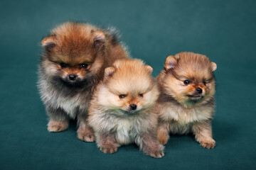
[[[85,23],[64,23],[42,40],[38,89],[49,117],[48,131],[68,128],[78,119],[78,138],[95,140],[87,125],[87,106],[105,67],[127,52],[111,30]]]

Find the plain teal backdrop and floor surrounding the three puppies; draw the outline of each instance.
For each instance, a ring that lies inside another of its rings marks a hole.
[[[256,1],[0,1],[0,169],[256,169]],[[46,130],[36,88],[43,36],[65,21],[115,26],[132,57],[163,68],[168,55],[216,62],[215,149],[173,136],[165,157],[135,145],[103,154],[65,132]]]

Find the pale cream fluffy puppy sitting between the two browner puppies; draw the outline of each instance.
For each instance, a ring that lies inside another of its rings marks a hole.
[[[120,145],[135,142],[151,157],[163,157],[164,147],[156,137],[157,116],[152,109],[159,96],[153,69],[141,60],[117,60],[105,69],[89,108],[89,124],[97,146],[105,154]]]

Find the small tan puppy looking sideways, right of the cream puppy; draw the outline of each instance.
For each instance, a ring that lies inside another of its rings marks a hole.
[[[215,147],[211,121],[214,112],[217,69],[205,55],[180,52],[166,58],[164,70],[157,77],[160,96],[155,112],[159,115],[158,138],[162,145],[169,132],[193,132],[203,147]]]

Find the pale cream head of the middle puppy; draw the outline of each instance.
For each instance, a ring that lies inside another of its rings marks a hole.
[[[141,60],[117,60],[113,65],[105,69],[99,98],[102,105],[121,115],[134,115],[155,103],[159,92],[150,66]]]

